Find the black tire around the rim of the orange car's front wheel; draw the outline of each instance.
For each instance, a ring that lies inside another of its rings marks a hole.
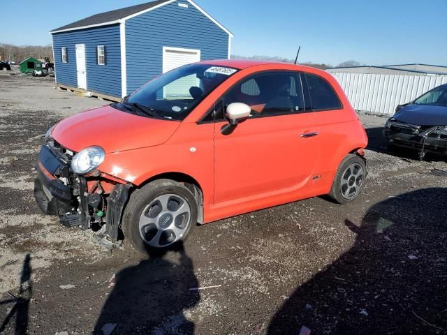
[[[190,217],[188,226],[185,229],[185,232],[182,238],[179,241],[175,241],[173,244],[169,244],[168,246],[154,248],[153,246],[149,246],[149,244],[143,241],[140,236],[140,216],[142,211],[145,210],[148,204],[150,204],[153,200],[161,195],[166,194],[174,194],[181,196],[186,202],[189,204],[190,208]],[[129,198],[129,202],[124,209],[124,214],[122,218],[122,230],[124,233],[124,237],[129,239],[131,244],[135,249],[140,251],[140,253],[144,254],[157,254],[163,253],[167,250],[175,249],[177,244],[185,241],[191,230],[197,224],[197,203],[194,198],[193,193],[189,191],[184,184],[181,184],[177,181],[173,181],[171,179],[158,179],[155,181],[146,184],[142,188],[138,188],[131,194]]]

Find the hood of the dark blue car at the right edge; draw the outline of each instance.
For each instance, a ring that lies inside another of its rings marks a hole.
[[[447,107],[406,105],[394,114],[397,121],[418,126],[447,126]]]

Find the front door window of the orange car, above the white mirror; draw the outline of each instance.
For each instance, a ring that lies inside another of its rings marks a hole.
[[[251,117],[303,112],[305,104],[299,73],[261,73],[236,84],[223,97],[223,106],[246,103]]]

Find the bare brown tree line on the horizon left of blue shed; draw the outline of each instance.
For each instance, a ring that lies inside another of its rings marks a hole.
[[[53,58],[51,45],[11,45],[0,43],[0,60],[20,62],[27,57],[44,59]]]

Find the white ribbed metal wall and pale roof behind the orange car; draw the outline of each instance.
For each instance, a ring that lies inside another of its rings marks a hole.
[[[397,105],[413,101],[447,83],[447,66],[401,64],[329,68],[355,110],[394,114]]]

